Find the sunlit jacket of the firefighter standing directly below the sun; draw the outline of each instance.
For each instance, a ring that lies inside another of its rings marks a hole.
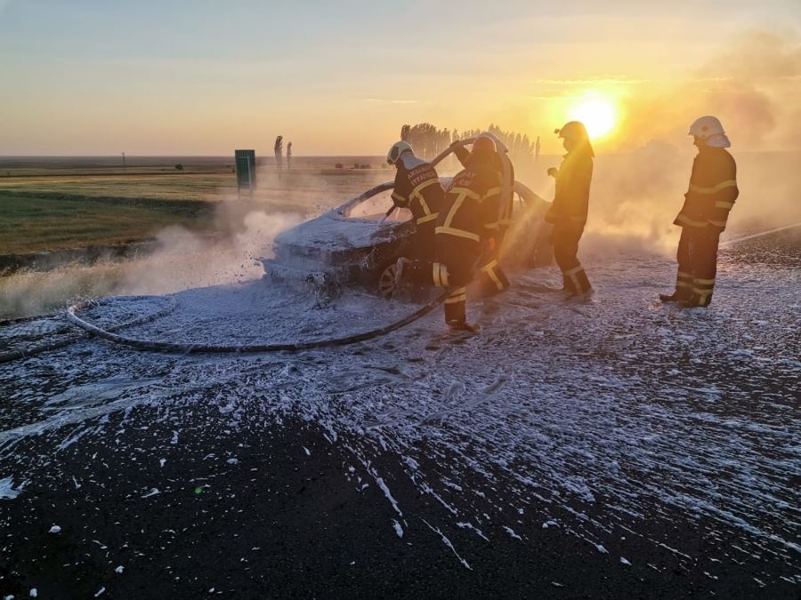
[[[546,212],[546,222],[583,228],[587,223],[592,180],[592,150],[577,148],[564,155],[559,171],[556,172],[554,204]]]

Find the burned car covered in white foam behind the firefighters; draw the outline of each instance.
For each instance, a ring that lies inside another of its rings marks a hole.
[[[447,187],[450,178],[440,178]],[[275,256],[263,259],[267,276],[322,288],[360,286],[391,297],[395,263],[401,256],[418,258],[413,244],[415,223],[407,209],[392,209],[392,182],[312,220],[287,229],[275,239]],[[505,267],[551,264],[550,226],[543,217],[550,203],[519,181],[514,182],[514,224],[501,246]]]

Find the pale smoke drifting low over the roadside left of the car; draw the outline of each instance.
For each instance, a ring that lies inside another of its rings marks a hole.
[[[0,318],[42,314],[109,294],[164,294],[263,275],[281,231],[391,179],[387,170],[313,168],[259,172],[253,197],[220,190],[210,233],[168,227],[156,248],[129,260],[76,261],[51,271],[0,276]]]

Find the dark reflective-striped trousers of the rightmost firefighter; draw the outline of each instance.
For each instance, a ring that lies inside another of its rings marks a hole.
[[[676,260],[676,298],[689,300],[693,296],[700,306],[712,301],[717,273],[717,245],[720,231],[710,226],[682,228]]]

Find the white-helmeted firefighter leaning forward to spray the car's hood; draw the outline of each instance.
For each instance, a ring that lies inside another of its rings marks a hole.
[[[406,270],[416,284],[430,284],[430,267],[436,257],[434,228],[437,225],[445,191],[440,185],[436,170],[430,163],[417,158],[408,142],[399,141],[392,144],[386,156],[386,162],[395,169],[395,187],[392,191],[394,206],[408,208],[415,222],[415,233],[412,244],[417,247],[417,255],[422,257],[416,268],[406,258],[398,260],[395,271],[396,281],[400,282],[401,274]]]

